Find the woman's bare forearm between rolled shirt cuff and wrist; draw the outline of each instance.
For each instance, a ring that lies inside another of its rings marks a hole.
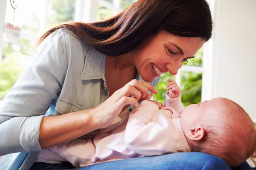
[[[47,116],[42,119],[39,143],[41,149],[55,146],[96,130],[90,110]]]

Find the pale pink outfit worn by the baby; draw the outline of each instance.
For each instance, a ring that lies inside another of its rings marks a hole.
[[[180,97],[166,96],[164,104],[166,107],[159,109],[153,102],[143,101],[114,129],[107,127],[93,138],[47,148],[39,153],[37,161],[70,161],[75,167],[82,167],[108,160],[190,152],[180,125]]]

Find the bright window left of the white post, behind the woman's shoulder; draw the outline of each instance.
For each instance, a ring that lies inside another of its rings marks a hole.
[[[15,10],[13,20],[13,9],[7,0],[5,23],[19,26],[21,36],[14,43],[9,42],[6,34],[3,36],[0,100],[6,96],[24,69],[32,62],[35,43],[40,35],[52,26],[73,20],[75,17],[76,0],[22,0],[15,4],[18,8]]]

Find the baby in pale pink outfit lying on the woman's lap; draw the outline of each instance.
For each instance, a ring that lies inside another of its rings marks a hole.
[[[102,161],[202,152],[227,161],[244,162],[255,150],[256,130],[249,115],[235,102],[215,98],[183,110],[180,88],[168,80],[164,105],[141,102],[121,121],[39,153],[37,161],[70,161],[75,167]]]

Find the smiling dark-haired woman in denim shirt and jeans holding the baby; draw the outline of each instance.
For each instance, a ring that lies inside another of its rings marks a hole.
[[[54,157],[34,161],[42,149],[99,133],[127,107],[131,111],[130,105],[138,106],[148,91],[157,93],[154,87],[160,74],[177,74],[211,32],[205,0],[138,0],[109,20],[61,24],[47,31],[32,66],[0,106],[0,155],[17,153],[4,156],[0,167],[72,169]],[[223,160],[202,153],[111,161],[80,169],[142,167],[230,169]]]

